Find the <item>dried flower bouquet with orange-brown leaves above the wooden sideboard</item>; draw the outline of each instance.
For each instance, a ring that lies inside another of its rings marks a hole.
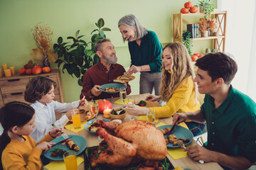
[[[31,33],[33,34],[33,38],[36,40],[37,49],[33,49],[31,52],[31,56],[34,57],[35,61],[43,62],[45,67],[49,67],[50,65],[46,65],[44,62],[55,62],[55,58],[58,57],[52,50],[50,50],[50,44],[52,43],[51,35],[53,31],[45,23],[44,26],[40,26],[40,23],[36,25],[34,28],[31,28]]]

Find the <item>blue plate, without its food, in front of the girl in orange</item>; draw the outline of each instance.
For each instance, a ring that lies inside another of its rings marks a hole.
[[[79,151],[76,152],[76,154],[80,154],[82,153],[85,148],[87,147],[87,140],[85,140],[85,137],[81,137],[79,135],[68,135],[68,137],[72,137],[70,140],[73,140],[75,145],[78,145],[78,147],[80,148]],[[64,137],[57,137],[55,138],[54,140],[50,141],[50,142],[60,142],[64,140]],[[68,148],[67,145],[62,145],[62,144],[58,144],[58,145],[55,145],[54,147],[52,147],[48,152],[44,153],[44,155],[48,158],[48,159],[51,159],[51,160],[55,160],[55,161],[60,161],[60,160],[63,160],[63,157],[61,156],[58,156],[58,157],[50,157],[50,155],[53,153],[52,151],[55,149],[55,148],[59,148],[59,149],[64,149],[65,151],[68,151],[70,150]]]

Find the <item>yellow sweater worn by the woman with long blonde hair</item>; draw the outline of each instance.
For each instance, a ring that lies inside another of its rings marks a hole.
[[[187,113],[198,111],[200,104],[195,100],[196,92],[193,91],[193,86],[191,77],[181,81],[181,84],[179,84],[166,105],[155,108],[156,118],[168,118],[176,112]]]

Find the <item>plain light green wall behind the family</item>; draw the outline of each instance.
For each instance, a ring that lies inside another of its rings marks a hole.
[[[112,40],[117,51],[118,63],[125,69],[129,68],[129,50],[127,42],[122,42],[121,34],[117,28],[119,18],[132,13],[142,26],[154,30],[159,36],[163,46],[173,41],[172,14],[179,13],[185,0],[0,0],[0,64],[18,69],[32,59],[30,53],[36,48],[36,42],[30,28],[38,23],[47,23],[53,30],[53,43],[59,36],[65,40],[74,36],[76,30],[80,35],[86,35],[90,40],[90,33],[95,29],[95,22],[99,18],[105,20],[105,27],[111,32],[105,32],[107,38]],[[196,0],[191,0],[196,4]],[[217,6],[217,0],[212,0]],[[53,45],[52,45],[53,46]],[[204,53],[206,47],[211,47],[210,41],[195,41],[193,52]],[[57,65],[52,63],[52,68]],[[65,101],[75,101],[80,96],[81,87],[77,79],[68,73],[62,74]],[[132,94],[139,93],[139,74],[131,82]]]

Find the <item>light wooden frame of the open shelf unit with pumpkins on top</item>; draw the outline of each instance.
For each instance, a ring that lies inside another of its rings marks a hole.
[[[184,19],[184,16],[205,16],[206,13],[176,13],[173,15],[173,33],[174,33],[174,42],[181,42],[182,33],[183,33],[183,22],[187,24],[192,24],[191,22]],[[191,38],[191,40],[214,40],[214,48],[217,52],[225,52],[225,32],[226,32],[226,23],[227,23],[227,11],[213,12],[210,13],[210,16],[213,16],[217,19],[217,31],[218,36],[209,36],[207,38]],[[199,20],[198,20],[199,22]]]

